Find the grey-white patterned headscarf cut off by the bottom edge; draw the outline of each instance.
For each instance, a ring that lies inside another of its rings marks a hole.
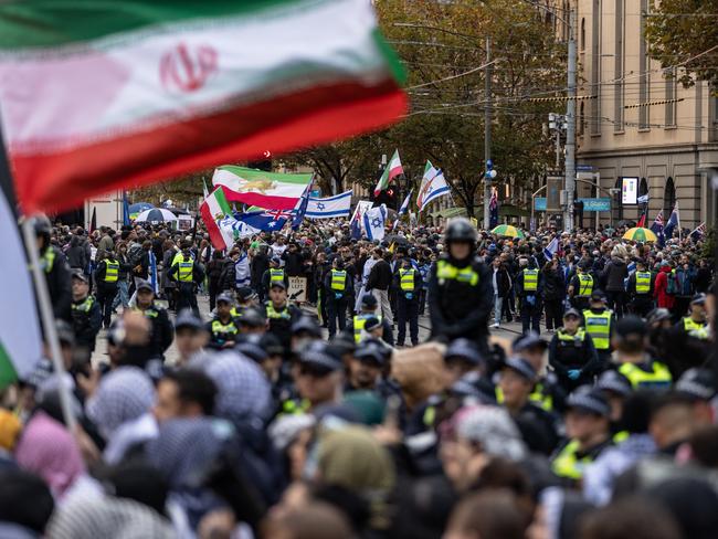
[[[144,504],[110,496],[73,497],[47,527],[50,538],[172,539],[172,527]]]

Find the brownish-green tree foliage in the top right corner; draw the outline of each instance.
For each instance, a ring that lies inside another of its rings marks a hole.
[[[651,56],[663,67],[680,64],[677,78],[686,87],[698,78],[718,92],[716,14],[718,0],[661,0],[646,17]]]

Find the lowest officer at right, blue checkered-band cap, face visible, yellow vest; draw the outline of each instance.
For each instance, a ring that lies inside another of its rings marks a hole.
[[[551,469],[566,484],[576,486],[585,467],[612,445],[611,406],[603,392],[581,385],[567,401],[567,441],[551,458]]]

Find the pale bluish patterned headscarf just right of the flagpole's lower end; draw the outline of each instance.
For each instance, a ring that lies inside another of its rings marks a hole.
[[[105,440],[123,423],[136,420],[155,403],[155,388],[138,367],[120,367],[105,376],[87,400],[87,416]]]

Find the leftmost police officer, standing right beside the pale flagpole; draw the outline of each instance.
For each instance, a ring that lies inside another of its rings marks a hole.
[[[71,323],[72,313],[70,304],[72,303],[72,284],[67,260],[62,251],[50,243],[52,225],[46,216],[35,218],[34,230],[40,256],[40,267],[45,275],[53,314],[55,318]]]

